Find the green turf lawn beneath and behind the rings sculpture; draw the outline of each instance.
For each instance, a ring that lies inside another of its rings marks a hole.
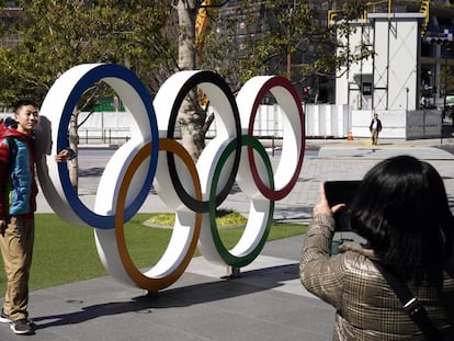
[[[145,226],[143,223],[149,217],[150,214],[137,214],[124,227],[128,252],[139,269],[156,264],[172,232],[170,228]],[[234,247],[242,230],[219,229],[224,245],[228,249]],[[304,225],[274,224],[268,240],[302,235],[305,230]],[[31,291],[106,275],[98,255],[93,229],[68,224],[55,214],[36,214],[33,257]],[[0,258],[0,297],[4,289],[5,277]]]

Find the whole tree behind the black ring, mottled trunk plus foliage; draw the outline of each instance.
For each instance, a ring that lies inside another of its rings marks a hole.
[[[314,76],[332,76],[337,68],[371,54],[363,46],[359,54],[334,53],[338,36],[351,32],[348,22],[363,13],[364,1],[343,1],[344,21],[332,26],[306,1],[179,0],[175,3],[180,23],[179,67],[216,70],[234,92],[257,75],[285,75],[294,83]],[[207,13],[201,13],[201,8]],[[206,15],[211,24],[209,30],[194,35],[197,13]],[[294,62],[292,56],[305,60]],[[179,122],[183,144],[197,159],[213,116],[197,107],[194,99],[197,100],[196,95],[186,99]]]

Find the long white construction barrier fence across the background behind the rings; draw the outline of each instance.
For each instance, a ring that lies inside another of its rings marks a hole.
[[[373,111],[351,111],[348,105],[303,104],[307,138],[347,138],[351,132],[353,138],[371,136],[368,126]],[[438,138],[441,136],[442,122],[439,110],[419,111],[377,111],[382,120],[381,138]],[[1,114],[0,117],[12,114]],[[132,115],[126,112],[81,113],[79,122],[86,121],[79,128],[81,145],[109,144],[122,145],[130,138]],[[282,115],[279,105],[261,105],[256,116],[254,136],[282,138]],[[87,118],[87,120],[86,120]],[[178,127],[177,127],[178,129]],[[216,121],[207,137],[216,135]],[[178,136],[178,132],[175,134]]]

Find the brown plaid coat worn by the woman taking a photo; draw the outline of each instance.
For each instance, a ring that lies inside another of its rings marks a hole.
[[[373,250],[349,242],[330,257],[333,229],[331,216],[314,217],[299,264],[303,285],[336,308],[333,340],[425,340],[371,261]],[[444,273],[442,296],[433,285],[409,287],[439,329],[454,326],[454,279]]]

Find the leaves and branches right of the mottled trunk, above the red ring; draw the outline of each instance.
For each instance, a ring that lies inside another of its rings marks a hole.
[[[349,22],[363,15],[365,1],[341,3],[343,20],[330,25],[326,12],[309,1],[238,1],[230,10],[213,9],[200,65],[218,70],[235,89],[264,73],[283,75],[294,83],[314,76],[334,77],[340,67],[372,55],[367,46],[342,50],[338,38],[354,30]],[[337,47],[340,54],[334,53]]]

